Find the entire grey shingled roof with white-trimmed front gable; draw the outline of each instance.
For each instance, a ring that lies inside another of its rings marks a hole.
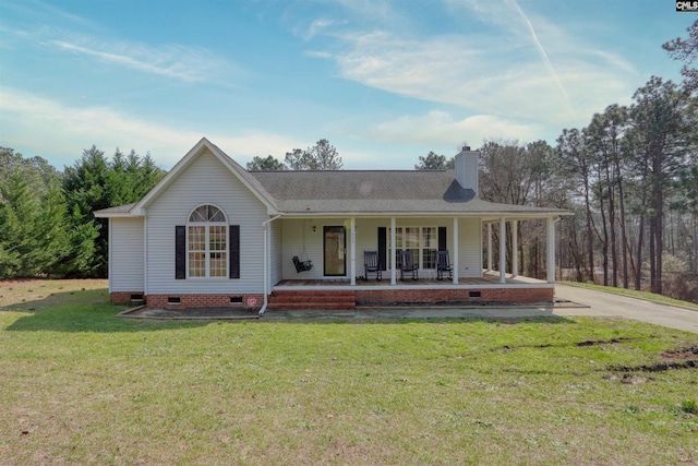
[[[141,201],[97,211],[95,216],[144,216],[145,208],[206,150],[266,205],[268,215],[541,218],[569,214],[561,208],[483,201],[456,181],[454,170],[248,171],[202,138]]]

